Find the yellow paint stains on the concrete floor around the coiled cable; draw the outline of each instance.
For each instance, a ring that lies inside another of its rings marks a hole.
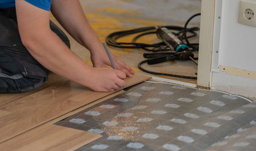
[[[130,10],[122,10],[118,8],[97,8],[99,10],[103,10],[109,13],[113,13],[114,16],[107,16],[101,13],[86,13],[86,16],[88,20],[90,21],[91,26],[93,27],[94,31],[97,33],[99,39],[101,41],[105,41],[105,37],[109,35],[110,33],[120,31],[120,30],[127,30],[128,27],[125,26],[125,23],[127,24],[133,24],[137,25],[138,27],[145,27],[145,26],[154,26],[159,25],[158,20],[147,20],[142,18],[122,18],[122,21],[120,21],[120,18],[115,17],[115,14],[122,13],[122,14],[140,14],[139,12],[130,11]],[[129,29],[131,29],[129,27]],[[131,42],[132,38],[134,38],[136,34],[129,35],[122,37],[118,39],[117,41],[122,42]],[[147,44],[153,44],[156,41],[157,36],[154,34],[144,36],[138,39],[138,42],[143,42]],[[113,52],[117,56],[122,56],[129,54],[130,52],[134,51],[134,49],[123,49],[122,51],[116,50],[111,48],[111,52]],[[84,55],[88,56],[88,55]]]

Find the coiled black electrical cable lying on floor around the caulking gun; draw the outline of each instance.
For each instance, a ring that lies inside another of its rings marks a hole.
[[[191,16],[186,21],[184,27],[179,27],[179,26],[159,26],[159,27],[165,27],[169,30],[172,30],[172,32],[179,39],[181,39],[182,41],[183,40],[186,41],[186,45],[190,48],[191,51],[196,51],[196,50],[198,51],[199,44],[190,44],[188,39],[197,36],[196,31],[199,31],[200,29],[198,27],[187,28],[187,25],[189,24],[190,20],[193,19],[194,17],[198,16],[198,15],[201,15],[201,13],[198,13],[198,14],[195,14],[195,15]],[[150,32],[147,32],[147,31],[150,31]],[[176,32],[174,32],[174,31],[176,31]],[[121,37],[131,35],[131,34],[140,33],[140,32],[143,32],[143,33],[138,34],[137,36],[135,36],[132,39],[132,42],[117,42],[117,40]],[[187,36],[187,32],[190,33],[189,36]],[[118,48],[139,48],[139,49],[144,49],[144,50],[153,51],[153,52],[157,51],[157,50],[158,51],[168,51],[169,49],[167,49],[167,48],[162,49],[162,46],[165,46],[164,42],[159,42],[157,44],[144,44],[144,43],[135,42],[141,36],[144,36],[144,35],[147,35],[147,34],[154,34],[154,33],[156,33],[156,28],[153,27],[153,26],[152,27],[136,28],[136,29],[132,29],[132,30],[124,30],[124,31],[118,31],[118,32],[111,33],[108,36],[106,36],[105,41],[106,41],[106,44],[108,44],[110,46],[113,46],[113,47],[118,47]],[[196,58],[194,58],[194,59],[196,59]],[[147,62],[147,60],[143,60],[143,61],[138,63],[138,68],[141,71],[144,71],[146,73],[155,74],[155,75],[165,75],[165,76],[187,78],[187,79],[197,79],[197,77],[191,77],[191,76],[175,75],[175,74],[158,73],[158,72],[148,71],[148,70],[145,70],[144,68],[141,67],[141,65],[143,63],[146,63],[146,62]]]

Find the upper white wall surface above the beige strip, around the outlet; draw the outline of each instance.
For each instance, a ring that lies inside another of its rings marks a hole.
[[[256,71],[256,27],[238,23],[239,4],[239,0],[222,3],[219,63]]]

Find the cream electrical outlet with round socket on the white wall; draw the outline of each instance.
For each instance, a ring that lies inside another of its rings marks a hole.
[[[240,1],[238,23],[256,27],[256,2]]]

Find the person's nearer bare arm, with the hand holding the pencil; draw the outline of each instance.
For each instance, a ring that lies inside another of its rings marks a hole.
[[[95,91],[113,91],[125,85],[123,72],[92,68],[71,52],[51,31],[49,11],[17,0],[16,13],[23,44],[42,66]],[[101,80],[103,75],[105,81]]]

